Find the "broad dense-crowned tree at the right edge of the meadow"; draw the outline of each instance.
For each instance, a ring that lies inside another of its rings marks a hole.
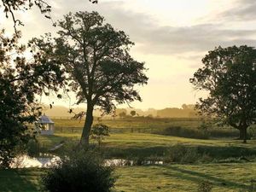
[[[196,107],[238,129],[246,143],[247,128],[256,121],[256,49],[246,45],[218,47],[202,62],[204,66],[190,82],[209,95]]]

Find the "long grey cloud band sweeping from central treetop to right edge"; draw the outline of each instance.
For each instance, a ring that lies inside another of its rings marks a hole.
[[[256,45],[256,38],[252,38],[255,34],[253,30],[224,29],[222,24],[211,23],[195,26],[160,26],[158,20],[154,20],[150,13],[125,10],[124,5],[123,2],[108,2],[98,11],[109,23],[130,35],[131,40],[137,44],[137,51],[143,54],[181,55],[204,52],[219,45]]]

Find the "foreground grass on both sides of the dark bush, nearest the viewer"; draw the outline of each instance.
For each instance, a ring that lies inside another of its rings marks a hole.
[[[34,192],[40,188],[42,169],[0,171],[0,191]],[[197,191],[208,180],[212,191],[249,191],[256,163],[166,166],[124,166],[115,170],[117,191]]]

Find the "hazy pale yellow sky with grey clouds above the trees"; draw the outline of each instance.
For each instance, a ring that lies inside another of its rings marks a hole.
[[[180,107],[195,103],[200,92],[189,78],[201,67],[201,58],[216,46],[256,45],[255,0],[54,0],[54,20],[69,11],[96,10],[116,29],[135,42],[131,49],[137,61],[148,67],[148,85],[138,88],[143,102],[136,108]],[[58,28],[34,8],[20,15],[23,41]],[[1,27],[13,30],[11,20],[2,15]],[[52,101],[48,98],[45,102]],[[64,104],[67,101],[55,103]]]

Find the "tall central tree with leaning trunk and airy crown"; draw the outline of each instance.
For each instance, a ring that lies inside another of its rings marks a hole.
[[[86,102],[81,142],[89,144],[93,110],[110,113],[116,104],[141,101],[137,84],[146,84],[143,62],[129,54],[133,43],[125,32],[116,31],[96,12],[77,12],[59,22],[59,37],[33,39],[33,43],[67,70],[69,86],[77,104]]]

